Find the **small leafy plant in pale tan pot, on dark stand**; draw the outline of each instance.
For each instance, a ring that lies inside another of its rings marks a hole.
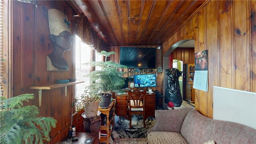
[[[100,94],[84,90],[84,93],[79,98],[75,99],[72,106],[76,106],[76,112],[84,109],[84,115],[86,118],[95,118],[97,116],[101,100],[102,96]]]

